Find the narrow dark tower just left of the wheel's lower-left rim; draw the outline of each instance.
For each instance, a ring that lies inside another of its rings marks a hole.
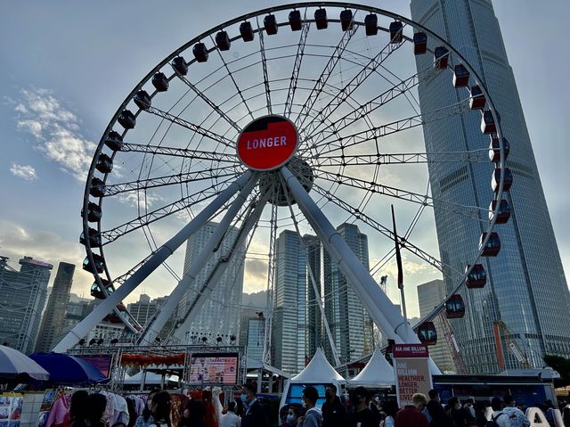
[[[57,274],[53,280],[52,293],[47,300],[42,326],[37,337],[36,351],[51,351],[57,344],[65,323],[65,311],[69,302],[69,292],[73,283],[75,266],[67,262],[60,262]]]

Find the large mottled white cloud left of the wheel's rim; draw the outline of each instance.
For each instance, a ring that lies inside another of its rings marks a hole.
[[[36,140],[35,148],[48,160],[84,181],[97,145],[81,134],[77,116],[49,90],[22,89],[20,96],[14,106],[16,126]]]

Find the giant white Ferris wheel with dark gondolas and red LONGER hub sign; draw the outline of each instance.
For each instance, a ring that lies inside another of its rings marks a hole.
[[[416,68],[418,55],[432,58],[428,67]],[[436,78],[455,87],[457,101],[420,111],[419,82]],[[466,115],[480,117],[485,144],[426,151],[422,125],[444,127],[446,119]],[[509,220],[502,197],[512,183],[508,152],[475,70],[452,45],[403,16],[362,4],[308,2],[224,22],[159,62],[105,129],[85,185],[80,238],[83,267],[94,275],[92,294],[102,302],[55,350],[75,345],[103,317],[125,324],[135,341],[152,343],[224,239],[229,249],[198,283],[201,292],[184,322],[228,266],[259,248],[268,253],[271,290],[275,242],[285,229],[318,236],[387,338],[419,342],[417,332],[433,341],[430,320],[462,316],[460,291],[485,285],[479,258],[500,250],[493,226]],[[432,196],[429,169],[442,162],[487,173],[488,200],[465,206]],[[395,234],[389,205],[405,233]],[[437,209],[482,231],[465,269],[445,266],[427,243],[435,241]],[[218,223],[216,231],[181,275],[176,256],[169,257],[209,221]],[[369,236],[373,267],[364,267],[339,237],[341,223]],[[414,234],[419,223],[431,224],[430,238]],[[230,228],[237,230],[231,237]],[[377,283],[394,242],[457,283],[416,331]],[[169,280],[175,290],[143,328],[121,301],[145,280]]]

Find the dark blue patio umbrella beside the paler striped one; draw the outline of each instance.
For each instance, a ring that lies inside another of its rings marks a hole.
[[[49,374],[49,382],[61,385],[96,384],[107,377],[85,360],[63,353],[34,353],[29,357]]]

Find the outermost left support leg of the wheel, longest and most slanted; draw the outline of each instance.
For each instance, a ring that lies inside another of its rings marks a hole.
[[[247,185],[251,179],[256,180],[253,172],[247,170],[232,185],[229,185],[220,193],[208,207],[202,209],[199,214],[194,217],[184,228],[175,234],[168,242],[164,243],[142,266],[134,272],[125,283],[118,286],[117,291],[112,292],[106,300],[103,300],[89,315],[79,322],[63,339],[55,346],[53,351],[64,353],[72,348],[79,340],[81,340],[89,331],[94,328],[95,324],[102,321],[110,311],[117,307],[118,303],[124,300],[134,289],[141,284],[151,273],[159,267],[175,250],[177,250],[183,242],[188,240],[191,234],[194,234],[201,226],[208,222],[218,209],[224,206],[224,203],[232,197],[233,194],[240,191],[244,185]]]

